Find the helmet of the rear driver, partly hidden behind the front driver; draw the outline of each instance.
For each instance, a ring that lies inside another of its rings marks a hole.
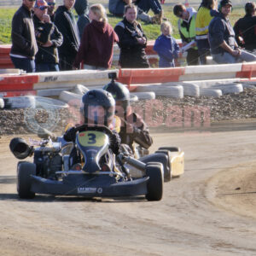
[[[116,102],[123,108],[126,114],[127,108],[130,106],[130,91],[125,87],[125,84],[115,82],[114,79],[103,87],[103,90],[110,92]]]

